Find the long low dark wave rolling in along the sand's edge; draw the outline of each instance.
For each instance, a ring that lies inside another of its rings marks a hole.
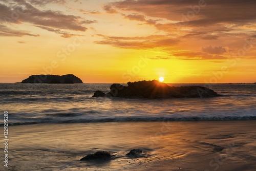
[[[74,115],[69,115],[72,117]],[[67,117],[67,115],[66,115]],[[30,124],[61,124],[61,123],[104,123],[104,122],[163,122],[163,121],[242,121],[256,120],[256,116],[222,116],[222,117],[120,117],[120,118],[103,118],[103,119],[63,119],[63,120],[41,120],[13,122],[8,125],[30,125]],[[0,124],[4,126],[4,124]]]

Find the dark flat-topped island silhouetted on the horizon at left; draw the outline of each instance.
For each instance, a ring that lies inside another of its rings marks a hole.
[[[67,75],[31,75],[22,83],[83,83],[82,80],[73,74]]]

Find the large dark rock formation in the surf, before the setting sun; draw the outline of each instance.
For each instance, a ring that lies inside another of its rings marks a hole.
[[[157,80],[128,82],[128,86],[114,83],[109,93],[96,91],[93,97],[124,97],[124,98],[192,98],[220,96],[211,89],[201,86],[170,87]]]

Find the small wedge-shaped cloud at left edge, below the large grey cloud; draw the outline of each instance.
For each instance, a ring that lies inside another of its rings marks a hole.
[[[22,36],[39,36],[39,34],[30,34],[27,31],[23,30],[13,30],[7,26],[0,25],[0,36],[17,36],[17,37],[22,37]]]

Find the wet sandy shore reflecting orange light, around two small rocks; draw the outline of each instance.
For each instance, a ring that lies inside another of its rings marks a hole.
[[[209,121],[10,126],[9,168],[256,170],[255,125],[256,121]],[[145,156],[125,156],[132,148],[143,149]],[[79,160],[100,150],[114,156],[103,162]]]

